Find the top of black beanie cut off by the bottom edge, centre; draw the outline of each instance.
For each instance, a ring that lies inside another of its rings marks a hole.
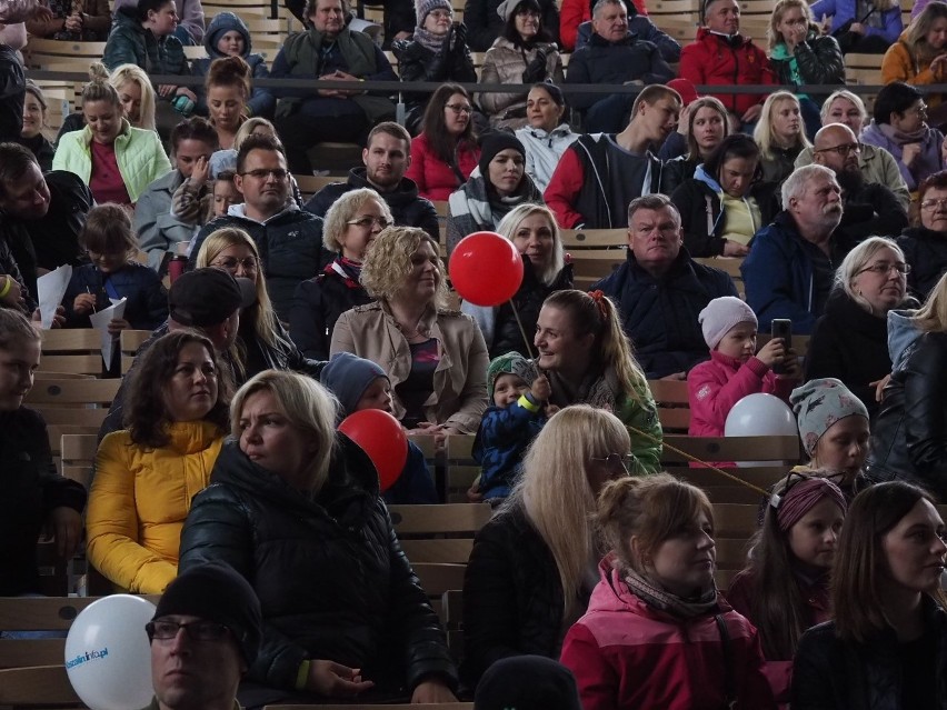
[[[497,661],[477,684],[474,710],[581,710],[576,678],[541,656]]]

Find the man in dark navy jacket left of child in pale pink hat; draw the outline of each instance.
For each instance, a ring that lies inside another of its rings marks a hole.
[[[596,289],[618,306],[648,379],[682,380],[707,360],[697,317],[715,298],[737,296],[729,276],[690,259],[680,214],[664,194],[640,197],[628,206],[628,259]]]

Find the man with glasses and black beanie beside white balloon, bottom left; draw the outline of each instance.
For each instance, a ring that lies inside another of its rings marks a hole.
[[[154,698],[144,710],[239,710],[237,688],[257,660],[260,602],[230,567],[182,572],[144,626]]]

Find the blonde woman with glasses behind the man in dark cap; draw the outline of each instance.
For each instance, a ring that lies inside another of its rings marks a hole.
[[[249,279],[257,302],[240,313],[235,344],[235,377],[243,382],[263,370],[296,370],[318,377],[321,364],[302,357],[273,311],[256,242],[242,229],[225,227],[208,234],[197,256],[197,268],[217,267],[235,278]]]

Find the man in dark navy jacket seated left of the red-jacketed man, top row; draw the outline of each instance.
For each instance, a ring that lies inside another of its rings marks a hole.
[[[586,47],[569,60],[567,83],[665,83],[674,70],[651,42],[628,31],[628,11],[621,0],[598,0],[592,9],[595,32]],[[577,93],[570,98],[584,112],[588,133],[611,133],[625,126],[632,93]]]

